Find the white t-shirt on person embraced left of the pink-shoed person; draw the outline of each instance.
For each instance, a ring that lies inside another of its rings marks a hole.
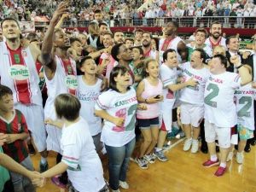
[[[188,102],[191,104],[202,106],[204,105],[204,92],[209,78],[209,69],[203,67],[201,69],[195,69],[191,67],[190,62],[185,62],[180,65],[183,69],[183,82],[188,81],[191,78],[197,80],[198,84],[195,87],[187,86],[181,90],[181,96],[179,100],[181,102]]]

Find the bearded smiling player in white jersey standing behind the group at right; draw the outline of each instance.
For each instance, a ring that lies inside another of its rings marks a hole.
[[[207,38],[206,43],[213,50],[217,45],[226,47],[226,39],[221,37],[222,26],[219,22],[212,22],[210,26],[210,37]]]

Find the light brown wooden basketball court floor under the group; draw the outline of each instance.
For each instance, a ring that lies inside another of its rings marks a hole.
[[[178,143],[180,142],[180,143]],[[156,161],[148,170],[140,169],[131,162],[127,182],[131,192],[256,192],[256,146],[245,153],[243,165],[236,163],[236,158],[228,163],[229,171],[223,177],[215,177],[217,166],[205,168],[202,162],[208,154],[183,152],[183,142],[172,141],[172,148],[166,151],[167,162]],[[38,167],[39,156],[32,157],[34,167]],[[55,154],[49,154],[49,166],[55,165]],[[103,159],[107,173],[107,159]],[[50,180],[38,192],[60,191]]]

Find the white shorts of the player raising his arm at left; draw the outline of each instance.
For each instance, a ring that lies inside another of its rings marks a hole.
[[[44,118],[50,118],[55,120],[55,108],[54,104],[49,104],[44,108]],[[47,131],[47,150],[55,151],[61,154],[61,129],[52,125],[45,125]]]

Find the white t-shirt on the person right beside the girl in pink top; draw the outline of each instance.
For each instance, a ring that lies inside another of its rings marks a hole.
[[[160,66],[160,79],[164,85],[164,102],[167,101],[175,101],[176,96],[175,92],[168,89],[168,85],[170,84],[177,84],[177,67],[171,68],[166,66],[166,64],[162,64]]]

